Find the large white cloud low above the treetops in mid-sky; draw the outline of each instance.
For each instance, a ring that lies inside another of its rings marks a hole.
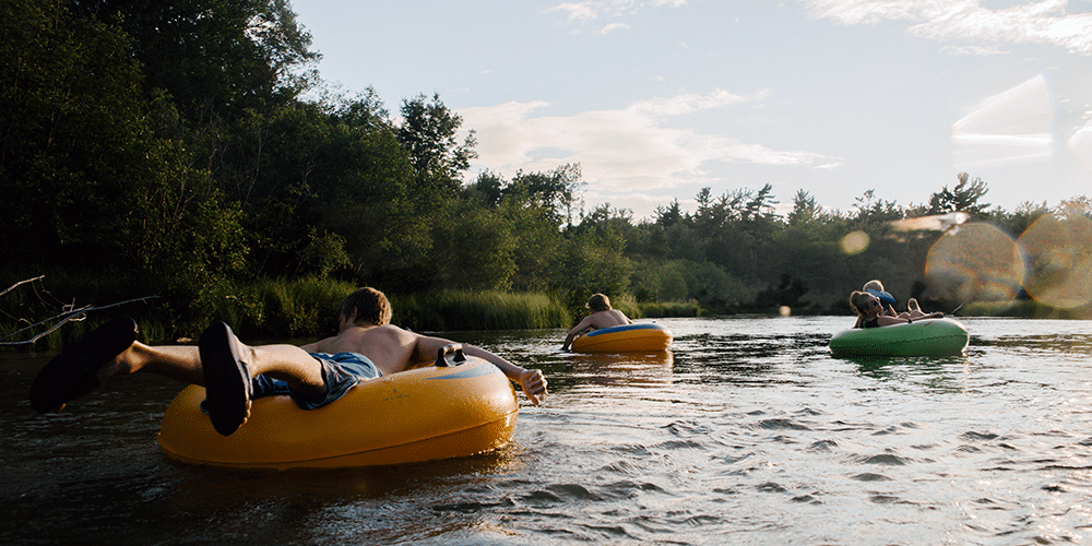
[[[731,105],[753,103],[768,92],[740,96],[725,91],[685,94],[634,103],[622,109],[573,116],[536,116],[548,105],[507,103],[463,108],[463,127],[477,132],[482,165],[512,174],[548,170],[580,163],[590,194],[642,192],[712,180],[712,163],[785,166],[829,159],[810,152],[779,151],[762,144],[668,127],[676,117]]]

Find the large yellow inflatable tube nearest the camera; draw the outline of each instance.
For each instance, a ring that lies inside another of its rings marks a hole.
[[[201,411],[204,388],[190,385],[167,408],[159,446],[185,463],[285,470],[428,461],[508,443],[519,415],[512,384],[492,364],[448,352],[437,365],[363,381],[318,410],[288,396],[254,400],[250,418],[227,437]]]

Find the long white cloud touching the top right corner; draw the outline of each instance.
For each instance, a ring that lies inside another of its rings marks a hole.
[[[1067,0],[984,8],[981,0],[803,0],[816,19],[845,25],[887,20],[919,22],[907,34],[935,40],[1051,44],[1092,55],[1092,14],[1067,13]]]

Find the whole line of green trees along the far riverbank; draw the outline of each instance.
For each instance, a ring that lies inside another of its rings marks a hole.
[[[229,283],[310,276],[544,293],[578,312],[594,292],[844,311],[874,277],[927,295],[940,233],[892,238],[892,219],[962,211],[1019,235],[1052,212],[990,209],[961,175],[916,206],[869,191],[843,213],[800,190],[781,215],[770,186],[705,188],[692,212],[675,200],[634,221],[583,202],[579,164],[464,181],[462,118],[439,95],[394,117],[375,90],[332,91],[286,0],[0,0],[0,273],[154,294],[180,330]],[[871,244],[846,253],[857,232]]]

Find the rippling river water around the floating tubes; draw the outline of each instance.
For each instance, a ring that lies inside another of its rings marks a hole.
[[[48,355],[0,356],[0,544],[1088,544],[1092,324],[963,319],[965,357],[832,358],[847,317],[661,320],[669,353],[449,332],[543,369],[472,458],[225,472],[155,442],[179,384],[40,416]]]

